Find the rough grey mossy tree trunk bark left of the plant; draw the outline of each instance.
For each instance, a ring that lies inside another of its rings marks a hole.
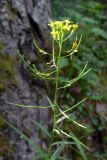
[[[5,102],[47,104],[45,89],[31,84],[25,67],[16,60],[16,50],[34,58],[30,54],[34,51],[32,38],[44,45],[50,15],[50,0],[0,0],[0,160],[31,160],[36,153],[4,120],[40,144],[32,120],[46,124],[48,111],[12,107]]]

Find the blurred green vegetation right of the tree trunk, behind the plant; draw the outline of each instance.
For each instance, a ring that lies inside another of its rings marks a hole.
[[[89,159],[107,159],[107,7],[106,2],[95,0],[53,1],[53,19],[66,19],[79,23],[78,39],[82,33],[79,52],[73,57],[72,64],[65,59],[69,69],[65,73],[74,77],[88,61],[93,70],[78,84],[65,90],[63,101],[72,103],[80,97],[88,97],[77,113],[76,119],[87,123],[89,130],[86,144],[90,146]],[[66,44],[67,47],[67,44]],[[64,64],[64,63],[63,63]],[[65,96],[66,95],[66,96]],[[81,130],[66,124],[81,136]],[[77,157],[77,159],[79,159]]]

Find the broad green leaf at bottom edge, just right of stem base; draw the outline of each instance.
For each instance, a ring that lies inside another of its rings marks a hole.
[[[62,150],[64,149],[65,144],[61,144],[60,147],[54,152],[50,160],[57,160]]]

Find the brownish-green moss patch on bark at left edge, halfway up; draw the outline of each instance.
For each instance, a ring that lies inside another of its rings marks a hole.
[[[17,85],[15,79],[16,61],[9,55],[0,56],[0,91],[5,91],[11,85]]]

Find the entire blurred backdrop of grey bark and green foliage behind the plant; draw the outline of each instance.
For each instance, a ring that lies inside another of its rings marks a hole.
[[[78,53],[72,61],[71,58],[63,61],[64,77],[75,77],[87,61],[92,68],[58,97],[59,104],[63,103],[65,108],[87,97],[74,119],[86,124],[88,130],[69,122],[64,124],[65,129],[72,130],[89,146],[87,159],[107,160],[107,0],[0,0],[0,160],[31,160],[36,155],[21,136],[22,132],[47,150],[49,140],[33,121],[50,129],[51,113],[47,109],[18,108],[6,102],[47,105],[46,97],[53,98],[54,83],[33,76],[17,55],[19,49],[30,65],[36,64],[44,70],[48,57],[38,53],[32,40],[35,38],[46,51],[51,50],[47,26],[51,19],[70,19],[79,25],[77,38],[82,34]],[[65,49],[70,45],[71,41]],[[66,153],[72,160],[82,160],[75,148],[67,148]]]

